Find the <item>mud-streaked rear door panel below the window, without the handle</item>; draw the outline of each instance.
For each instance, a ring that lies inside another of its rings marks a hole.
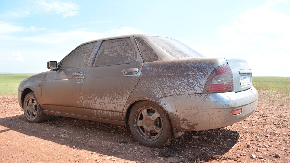
[[[142,65],[139,62],[89,68],[83,87],[87,116],[121,120],[124,105],[140,78],[140,73],[123,76],[121,71],[130,68],[141,71]]]

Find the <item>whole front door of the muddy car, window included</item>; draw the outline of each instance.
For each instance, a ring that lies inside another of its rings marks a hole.
[[[79,46],[62,61],[59,70],[50,70],[43,80],[42,98],[46,110],[85,115],[82,85],[87,62],[97,42]]]

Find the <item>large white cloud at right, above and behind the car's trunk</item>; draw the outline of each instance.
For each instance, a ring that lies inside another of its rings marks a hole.
[[[239,14],[232,25],[219,27],[214,44],[195,49],[208,57],[247,59],[256,76],[290,76],[290,17],[271,9],[277,3],[269,1]]]

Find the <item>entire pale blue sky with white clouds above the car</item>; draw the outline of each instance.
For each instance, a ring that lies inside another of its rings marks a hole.
[[[247,59],[253,76],[290,76],[289,0],[0,0],[0,72],[39,73],[81,43],[158,34],[207,57]]]

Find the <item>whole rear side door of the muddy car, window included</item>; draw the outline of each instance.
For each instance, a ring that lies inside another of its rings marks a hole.
[[[87,116],[121,120],[141,75],[143,60],[133,36],[102,40],[83,84]]]

